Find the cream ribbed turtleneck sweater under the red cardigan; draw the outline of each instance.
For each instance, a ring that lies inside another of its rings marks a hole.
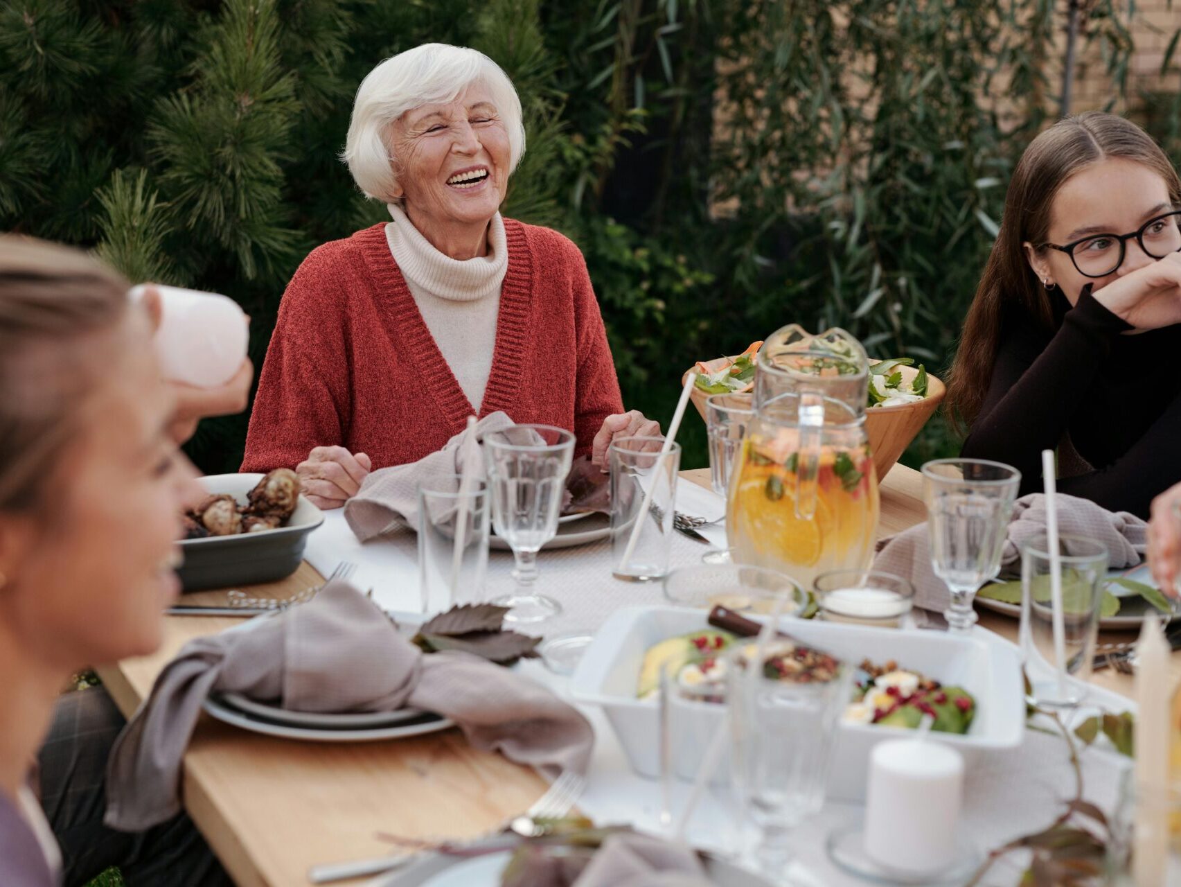
[[[402,207],[390,203],[389,209],[393,221],[385,226],[385,239],[393,261],[443,359],[478,413],[492,370],[501,283],[509,265],[504,220],[500,213],[492,216],[488,255],[459,260],[432,247]]]

